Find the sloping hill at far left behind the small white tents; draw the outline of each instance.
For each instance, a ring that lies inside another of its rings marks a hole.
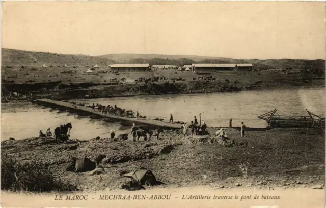
[[[115,61],[96,56],[85,55],[66,55],[57,53],[44,53],[44,52],[32,52],[15,49],[1,50],[2,65],[11,66],[42,66],[43,64],[50,66],[107,66],[115,63]]]

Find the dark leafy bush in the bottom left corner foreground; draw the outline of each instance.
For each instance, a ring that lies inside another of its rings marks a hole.
[[[46,166],[21,164],[10,157],[1,158],[1,189],[10,191],[75,191],[75,185],[56,179]]]

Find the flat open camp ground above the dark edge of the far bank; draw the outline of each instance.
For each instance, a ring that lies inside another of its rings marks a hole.
[[[150,75],[165,76],[168,79],[182,77],[186,81],[192,81],[193,78],[197,78],[197,75],[193,72],[178,71],[178,70],[156,70],[148,72],[119,72],[119,75],[113,73],[99,73],[99,71],[107,71],[108,68],[98,68],[95,70],[95,74],[86,73],[87,67],[79,66],[78,68],[73,67],[53,67],[53,68],[41,68],[41,67],[26,67],[21,68],[3,68],[2,79],[6,81],[14,81],[15,83],[25,83],[26,81],[32,81],[31,83],[38,82],[55,82],[62,81],[62,83],[80,83],[80,82],[94,82],[94,83],[105,83],[110,79],[126,78],[127,82],[134,82],[135,79],[140,77],[149,77]],[[69,72],[70,73],[64,73]],[[28,75],[27,75],[28,74]],[[58,77],[56,76],[58,75]],[[15,77],[17,75],[17,77]],[[256,72],[236,72],[236,71],[221,71],[211,73],[213,78],[216,78],[215,82],[224,82],[225,79],[233,81],[240,81],[243,84],[255,83],[257,81],[273,81],[273,80],[292,80],[301,78],[300,73],[285,74],[283,72],[277,72],[275,74],[272,71],[260,71],[259,74]],[[316,78],[314,75],[306,75],[305,78]],[[182,82],[182,81],[179,81]]]

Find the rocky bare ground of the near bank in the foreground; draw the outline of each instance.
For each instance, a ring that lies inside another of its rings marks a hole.
[[[253,131],[246,138],[240,138],[236,129],[227,132],[227,141],[215,136],[183,137],[175,131],[165,131],[159,140],[136,143],[99,138],[58,144],[52,138],[28,138],[3,141],[1,154],[23,164],[48,166],[53,175],[84,190],[121,189],[130,179],[120,173],[140,167],[151,170],[164,183],[158,187],[164,188],[324,187],[323,130]],[[72,157],[94,159],[100,154],[106,156],[101,162],[105,174],[66,171]]]

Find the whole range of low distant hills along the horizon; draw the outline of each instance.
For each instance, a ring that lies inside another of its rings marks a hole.
[[[302,59],[232,59],[193,55],[107,54],[102,56],[66,55],[2,49],[2,65],[107,66],[113,63],[150,63],[152,65],[191,65],[192,63],[252,63],[255,68],[325,68],[325,60]]]

